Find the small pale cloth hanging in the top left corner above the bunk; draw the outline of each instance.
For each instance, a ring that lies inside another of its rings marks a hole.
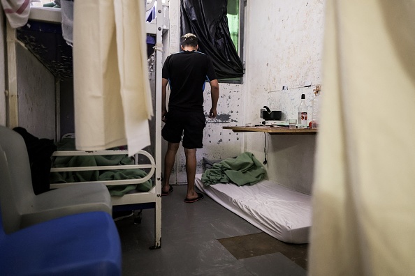
[[[12,28],[24,26],[29,20],[30,0],[1,0],[1,6]]]

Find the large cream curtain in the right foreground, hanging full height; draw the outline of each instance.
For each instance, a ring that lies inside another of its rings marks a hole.
[[[415,274],[414,14],[326,2],[310,275]]]

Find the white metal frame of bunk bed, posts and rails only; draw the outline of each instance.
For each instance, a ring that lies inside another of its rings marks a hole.
[[[160,45],[162,42],[163,33],[163,12],[162,1],[146,1],[146,10],[153,10],[156,17],[152,22],[146,22],[146,32],[156,38],[155,47],[155,106],[161,107],[161,60],[162,52]],[[156,6],[154,6],[156,5]],[[61,12],[57,8],[38,8],[31,7],[29,20],[48,22],[53,24],[61,24]],[[8,127],[14,128],[18,126],[18,102],[17,102],[17,66],[16,66],[16,43],[24,44],[17,39],[16,30],[11,28],[10,24],[6,26],[7,38],[7,60],[8,60]],[[58,99],[59,103],[59,99]],[[112,197],[112,206],[115,210],[138,210],[143,208],[154,208],[154,245],[150,249],[157,249],[161,247],[161,114],[155,109],[155,135],[154,135],[154,156],[146,151],[140,151],[138,155],[145,155],[150,164],[135,164],[129,166],[117,166],[117,169],[150,169],[150,172],[145,178],[107,182],[105,185],[125,185],[131,183],[143,183],[149,178],[153,178],[154,186],[149,192],[140,192],[133,194],[126,194],[123,197]],[[59,112],[57,112],[59,114]],[[59,121],[59,120],[57,120]],[[59,134],[59,125],[57,126],[57,137]],[[55,156],[62,155],[108,155],[108,154],[126,154],[126,151],[73,151],[73,152],[55,152]],[[136,158],[138,160],[138,158]],[[123,168],[119,168],[123,167]],[[81,167],[75,170],[92,170],[96,167]],[[100,169],[115,169],[113,167],[100,167]],[[52,169],[51,171],[74,170],[74,168]],[[64,187],[66,185],[81,185],[82,183],[64,183],[52,184],[51,188]]]

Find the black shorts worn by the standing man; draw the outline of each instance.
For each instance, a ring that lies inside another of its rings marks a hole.
[[[203,129],[206,126],[205,114],[201,112],[169,111],[161,136],[170,143],[180,143],[183,135],[184,148],[203,148]]]

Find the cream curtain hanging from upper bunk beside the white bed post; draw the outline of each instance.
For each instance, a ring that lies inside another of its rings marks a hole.
[[[145,44],[145,3],[74,1],[73,77],[76,148],[150,145],[152,100]]]

